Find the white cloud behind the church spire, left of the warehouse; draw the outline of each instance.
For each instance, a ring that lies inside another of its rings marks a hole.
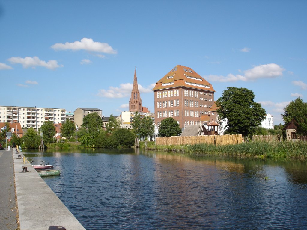
[[[140,93],[149,93],[152,92],[153,86],[155,84],[151,84],[147,88],[143,87],[142,85],[138,84],[138,90]],[[105,98],[125,98],[131,95],[133,84],[132,83],[122,83],[119,87],[110,86],[108,90],[102,89],[99,90],[97,96],[105,97]],[[141,96],[142,97],[142,96]]]

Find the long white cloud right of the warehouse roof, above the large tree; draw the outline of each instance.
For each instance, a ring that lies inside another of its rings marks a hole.
[[[261,78],[276,78],[282,76],[285,69],[277,64],[270,63],[266,65],[255,66],[252,69],[243,71],[244,75],[228,74],[226,77],[222,75],[208,75],[204,76],[205,79],[213,82],[235,82],[235,81],[255,81]],[[239,71],[241,72],[241,71]]]

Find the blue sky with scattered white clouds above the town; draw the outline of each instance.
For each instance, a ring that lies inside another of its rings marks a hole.
[[[1,105],[129,110],[176,65],[255,94],[274,124],[307,94],[307,1],[0,1]]]

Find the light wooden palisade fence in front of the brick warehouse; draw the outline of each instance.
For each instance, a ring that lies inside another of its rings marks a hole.
[[[243,136],[236,135],[212,135],[212,136],[163,136],[156,138],[157,145],[185,145],[185,144],[213,144],[228,145],[240,144],[243,142]]]

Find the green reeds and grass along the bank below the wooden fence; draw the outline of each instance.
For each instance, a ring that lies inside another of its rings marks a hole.
[[[144,148],[140,142],[140,148]],[[241,144],[215,146],[212,144],[193,145],[155,145],[155,142],[147,143],[147,149],[163,151],[181,151],[188,154],[198,155],[228,155],[240,157],[265,157],[279,159],[306,159],[306,141],[250,141]]]

